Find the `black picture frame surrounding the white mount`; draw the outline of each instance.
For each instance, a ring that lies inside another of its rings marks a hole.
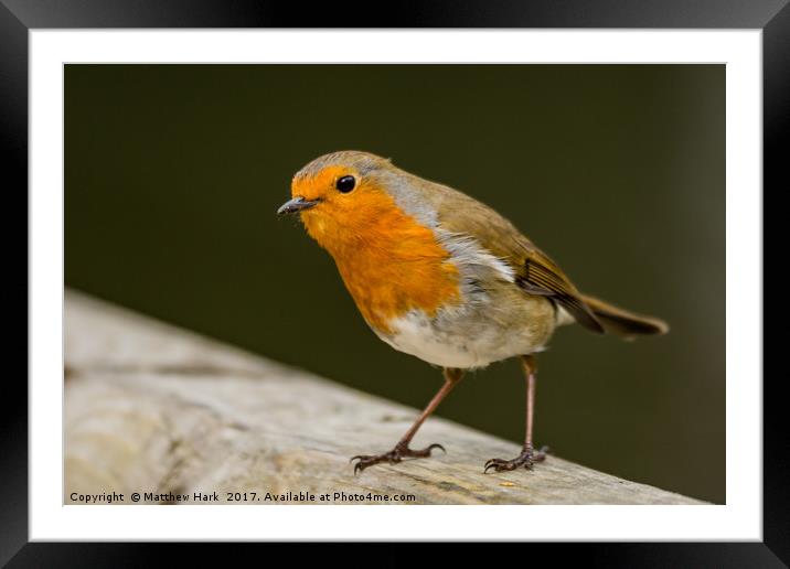
[[[789,1],[424,0],[382,4],[376,11],[373,3],[355,0],[344,1],[340,7],[335,3],[311,2],[308,6],[266,0],[0,0],[0,155],[6,164],[3,180],[7,181],[3,185],[6,196],[23,200],[19,210],[7,210],[11,214],[7,219],[22,217],[23,210],[24,219],[28,218],[28,33],[34,29],[68,28],[760,29],[764,41],[765,198],[790,187],[784,150],[790,138]],[[769,211],[764,206],[764,212]],[[7,243],[15,245],[17,240],[9,234]],[[782,241],[766,237],[764,243],[766,248],[778,251],[780,245],[777,244]],[[776,253],[773,258],[781,258],[780,255]],[[17,270],[24,270],[28,286],[26,255],[24,262],[25,268],[22,269],[20,261]],[[784,315],[787,309],[777,304],[768,304],[771,311],[764,316],[765,324],[779,322]],[[777,341],[777,336],[772,337]],[[26,354],[26,350],[24,352]],[[22,351],[9,353],[21,357]],[[764,354],[767,363],[765,347]],[[780,396],[784,375],[766,374],[764,383],[762,543],[535,544],[530,547],[551,548],[555,562],[573,557],[583,559],[586,565],[608,567],[783,567],[790,563],[790,444],[782,421],[784,399]],[[0,562],[10,561],[10,567],[124,567],[149,565],[146,560],[161,557],[162,545],[28,543],[26,382],[22,380],[21,374],[8,375],[3,386],[0,398],[3,406],[0,414]],[[234,545],[234,556],[241,554],[238,547],[238,544]],[[245,549],[248,547],[244,546]],[[514,555],[512,549],[504,548],[501,555]],[[204,561],[210,560],[205,552],[200,555]],[[407,552],[404,556],[408,558]]]

